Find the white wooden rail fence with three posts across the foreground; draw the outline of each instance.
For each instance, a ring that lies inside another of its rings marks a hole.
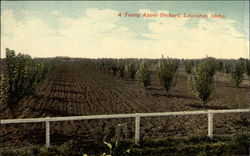
[[[160,112],[160,113],[135,113],[135,114],[110,114],[110,115],[89,115],[89,116],[70,116],[70,117],[46,117],[29,119],[4,119],[1,124],[13,123],[32,123],[45,122],[46,125],[46,147],[50,146],[50,122],[69,121],[69,120],[88,120],[88,119],[117,119],[117,118],[135,118],[135,143],[140,141],[140,118],[159,117],[170,115],[208,115],[208,136],[213,137],[213,115],[217,113],[250,113],[250,109],[228,109],[228,110],[203,110],[203,111],[182,111],[182,112]]]

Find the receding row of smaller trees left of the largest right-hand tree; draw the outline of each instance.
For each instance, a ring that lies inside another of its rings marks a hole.
[[[157,60],[158,61],[158,60]],[[86,64],[91,64],[88,60]],[[137,79],[138,82],[147,88],[151,84],[151,75],[153,67],[156,65],[156,71],[159,82],[165,91],[168,91],[176,82],[176,71],[179,60],[161,59],[156,60],[116,60],[116,59],[100,59],[92,60],[92,65],[99,71],[110,71],[113,76],[124,79],[127,76],[132,82]]]

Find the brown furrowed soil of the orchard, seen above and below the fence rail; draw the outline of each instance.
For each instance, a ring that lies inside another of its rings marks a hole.
[[[187,88],[187,75],[180,69],[177,85],[168,93],[157,83],[145,90],[137,82],[121,80],[107,72],[98,72],[77,61],[59,65],[37,89],[34,97],[26,97],[10,111],[0,104],[2,119],[79,116],[139,112],[170,112],[202,110],[202,102]],[[226,75],[216,75],[215,89],[205,109],[249,108],[250,87],[247,81],[240,88],[233,87]],[[250,114],[215,115],[215,134],[250,132]],[[60,144],[70,139],[109,141],[115,136],[119,123],[127,123],[126,137],[133,138],[134,119],[86,120],[53,122],[51,142]],[[44,123],[1,125],[1,145],[26,146],[44,144]],[[141,119],[142,138],[206,135],[207,116],[169,116]]]

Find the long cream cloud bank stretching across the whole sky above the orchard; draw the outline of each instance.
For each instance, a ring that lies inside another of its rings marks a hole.
[[[153,13],[148,9],[139,12]],[[54,22],[60,27],[55,29],[47,21],[29,16],[30,12],[25,13],[29,18],[20,20],[13,11],[4,10],[1,51],[11,48],[35,57],[248,57],[249,41],[236,30],[234,20],[197,19],[197,25],[190,28],[188,18],[141,18],[140,24],[148,30],[141,33],[134,29],[137,23],[122,24],[129,19],[118,18],[116,10],[91,8],[84,13],[78,18],[57,17]]]

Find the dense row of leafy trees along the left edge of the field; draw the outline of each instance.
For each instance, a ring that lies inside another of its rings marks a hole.
[[[55,67],[53,59],[32,59],[6,49],[5,66],[0,79],[0,100],[10,108],[26,95],[33,95],[38,85]]]

